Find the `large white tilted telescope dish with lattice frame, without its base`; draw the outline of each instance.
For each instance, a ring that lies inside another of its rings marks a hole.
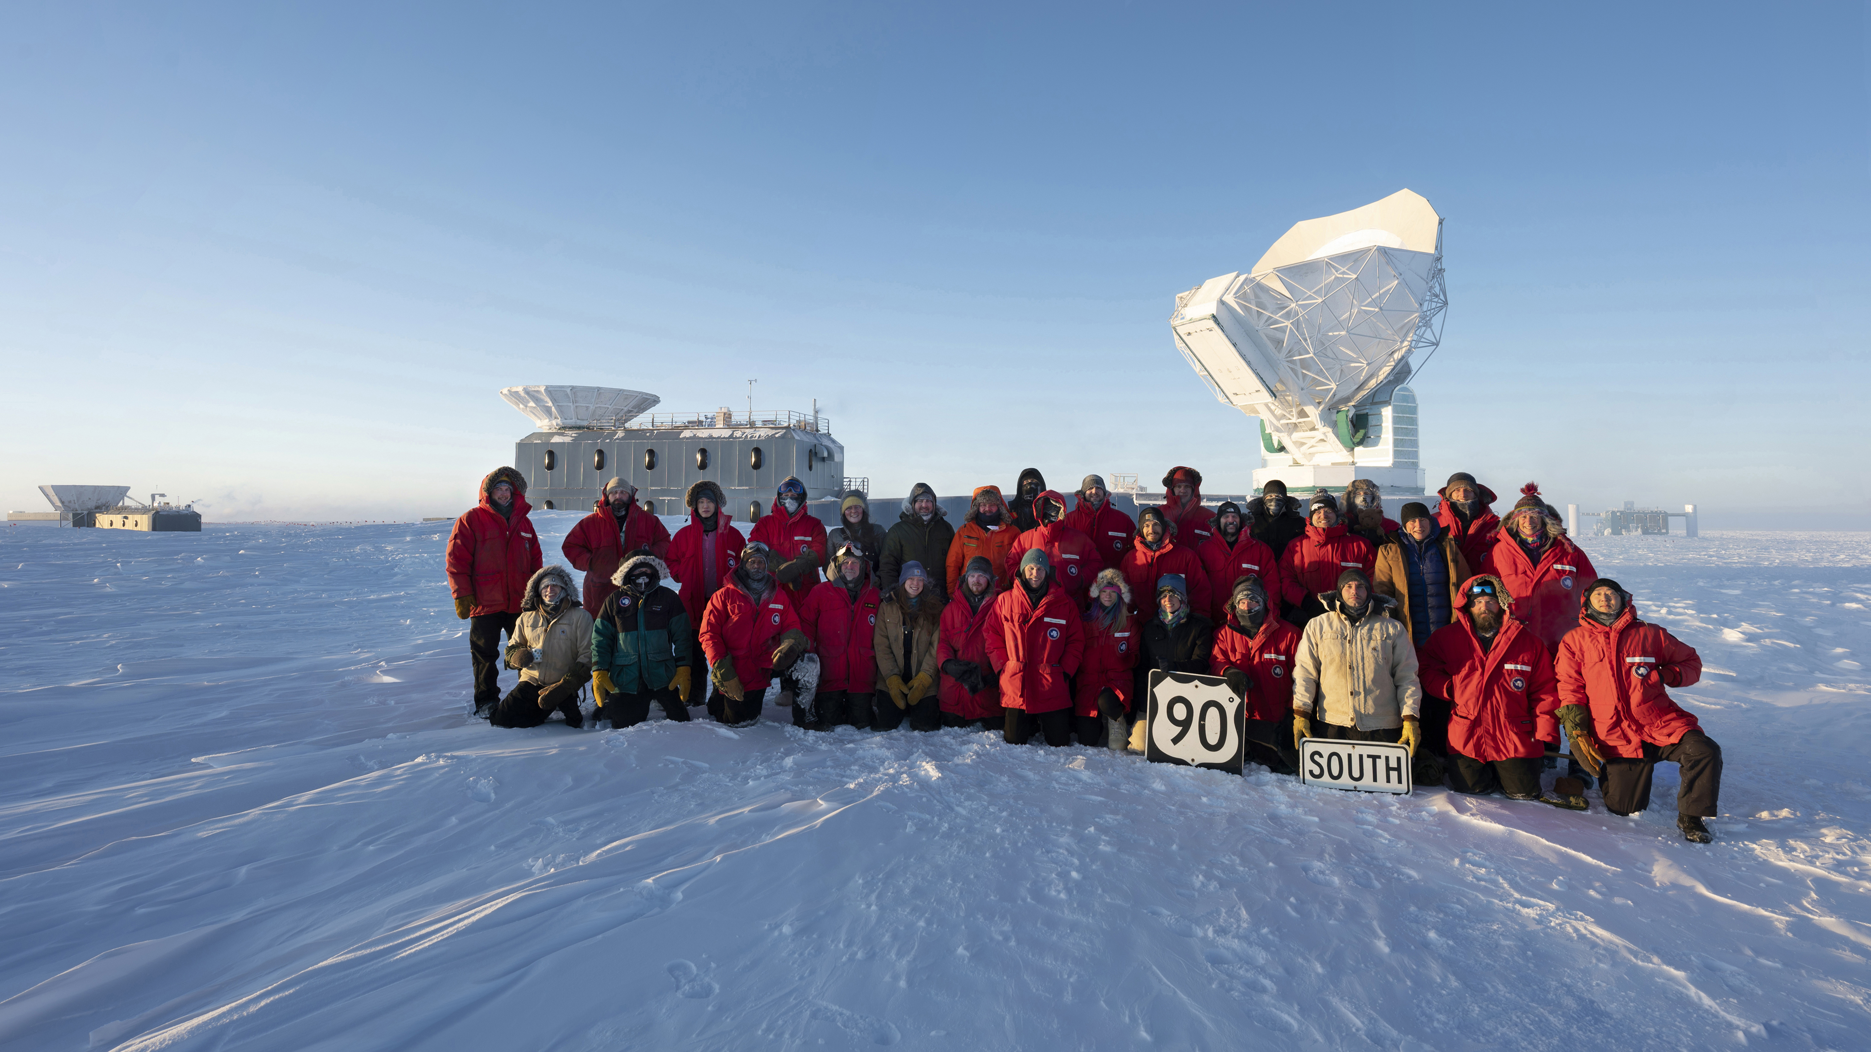
[[[1360,415],[1441,340],[1443,219],[1420,194],[1293,224],[1246,275],[1175,299],[1177,349],[1293,465],[1358,463]]]

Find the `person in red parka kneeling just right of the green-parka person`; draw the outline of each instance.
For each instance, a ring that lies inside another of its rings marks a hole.
[[[767,546],[741,549],[741,564],[702,611],[702,654],[715,691],[707,712],[717,723],[752,723],[775,673],[793,667],[810,648],[786,589],[767,572]]]

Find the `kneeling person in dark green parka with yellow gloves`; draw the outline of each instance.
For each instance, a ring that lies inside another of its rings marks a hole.
[[[649,703],[670,719],[689,719],[694,632],[683,600],[662,585],[670,568],[638,551],[612,576],[591,630],[591,684],[612,727],[636,727]]]

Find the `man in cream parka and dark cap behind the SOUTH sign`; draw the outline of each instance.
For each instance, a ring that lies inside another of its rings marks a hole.
[[[1371,579],[1353,568],[1317,602],[1325,613],[1306,622],[1293,660],[1293,747],[1340,738],[1400,742],[1416,755],[1422,684],[1409,630],[1390,617],[1396,600],[1371,592]]]

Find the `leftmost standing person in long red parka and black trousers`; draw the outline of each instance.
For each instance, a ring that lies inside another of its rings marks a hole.
[[[481,480],[481,503],[449,531],[449,594],[455,617],[468,622],[475,716],[500,703],[500,633],[513,639],[526,583],[546,562],[528,510],[526,476],[496,467]]]

